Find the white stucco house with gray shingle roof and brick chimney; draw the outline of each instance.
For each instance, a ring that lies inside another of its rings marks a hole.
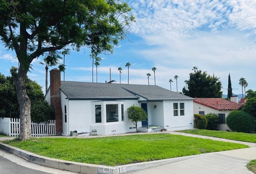
[[[53,69],[46,100],[55,107],[56,133],[62,135],[135,132],[126,113],[132,104],[148,114],[138,123],[140,131],[193,129],[193,98],[159,86],[61,81],[60,71]]]

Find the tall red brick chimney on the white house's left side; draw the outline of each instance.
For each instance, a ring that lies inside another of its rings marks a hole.
[[[61,108],[61,95],[60,95],[60,70],[54,68],[50,70],[50,96],[51,105],[55,108],[55,127],[56,135],[62,134],[62,108]]]

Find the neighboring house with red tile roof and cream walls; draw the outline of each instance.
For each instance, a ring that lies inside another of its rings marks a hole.
[[[235,101],[235,100],[233,100]],[[193,100],[194,114],[216,113],[219,116],[218,130],[230,130],[226,125],[226,117],[233,110],[240,110],[244,103],[231,102],[223,98],[195,98]]]

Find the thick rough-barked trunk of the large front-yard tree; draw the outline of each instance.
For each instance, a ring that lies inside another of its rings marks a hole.
[[[19,132],[19,141],[28,140],[31,138],[31,117],[30,117],[30,106],[31,102],[28,98],[26,91],[26,79],[27,70],[23,68],[21,63],[19,67],[19,72],[15,79],[15,87],[17,98],[19,101],[19,110],[20,110],[20,132]]]

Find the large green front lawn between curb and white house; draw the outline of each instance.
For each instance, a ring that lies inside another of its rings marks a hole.
[[[9,145],[50,158],[117,166],[246,148],[247,145],[172,134],[144,134],[104,138],[32,138],[5,141]]]

